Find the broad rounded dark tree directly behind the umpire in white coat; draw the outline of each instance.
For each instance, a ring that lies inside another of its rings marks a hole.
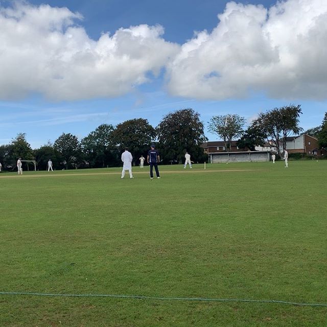
[[[147,154],[151,142],[155,139],[155,129],[147,119],[138,118],[118,124],[112,132],[117,149],[122,152],[128,148],[135,162],[141,154]]]

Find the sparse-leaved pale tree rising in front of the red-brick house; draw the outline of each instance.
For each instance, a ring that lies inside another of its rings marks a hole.
[[[218,115],[213,116],[208,124],[208,130],[223,139],[227,151],[227,144],[231,150],[232,139],[242,135],[245,118],[238,114]]]

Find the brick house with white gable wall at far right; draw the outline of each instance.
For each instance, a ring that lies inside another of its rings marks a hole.
[[[283,145],[279,145],[283,151]],[[306,153],[308,155],[323,155],[318,147],[318,138],[309,134],[286,137],[286,149],[288,153]]]

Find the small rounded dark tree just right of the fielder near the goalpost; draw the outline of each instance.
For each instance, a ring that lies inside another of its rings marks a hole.
[[[71,133],[62,133],[53,145],[62,157],[62,164],[68,169],[68,165],[77,164],[81,158],[81,145],[78,138]]]

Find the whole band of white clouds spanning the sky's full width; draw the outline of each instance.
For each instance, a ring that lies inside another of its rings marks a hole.
[[[0,7],[0,99],[118,97],[162,67],[171,95],[204,100],[327,98],[327,1],[286,0],[270,9],[230,2],[212,32],[181,46],[161,26],[89,38],[67,8]]]

